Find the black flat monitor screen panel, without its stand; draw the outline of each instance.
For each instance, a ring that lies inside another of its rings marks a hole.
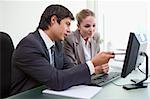
[[[125,78],[136,68],[137,58],[141,49],[140,45],[141,43],[137,36],[134,33],[130,33],[121,77]],[[142,50],[145,51],[145,49]]]

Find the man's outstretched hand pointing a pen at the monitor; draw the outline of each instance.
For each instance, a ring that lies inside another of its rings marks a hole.
[[[109,60],[114,57],[113,52],[99,52],[92,58],[91,62],[96,67],[108,63]]]

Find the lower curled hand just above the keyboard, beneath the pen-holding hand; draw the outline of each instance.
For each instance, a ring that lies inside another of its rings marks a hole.
[[[108,63],[95,67],[95,74],[107,73],[109,71]]]

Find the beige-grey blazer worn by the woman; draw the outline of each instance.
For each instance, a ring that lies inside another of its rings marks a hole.
[[[92,57],[100,51],[100,37],[95,33],[91,38]],[[64,40],[65,55],[74,64],[85,63],[85,55],[78,30],[72,32]]]

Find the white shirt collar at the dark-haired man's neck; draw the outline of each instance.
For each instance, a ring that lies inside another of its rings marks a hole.
[[[38,29],[44,43],[46,44],[47,49],[51,48],[55,43],[48,37],[48,35],[42,30]]]

